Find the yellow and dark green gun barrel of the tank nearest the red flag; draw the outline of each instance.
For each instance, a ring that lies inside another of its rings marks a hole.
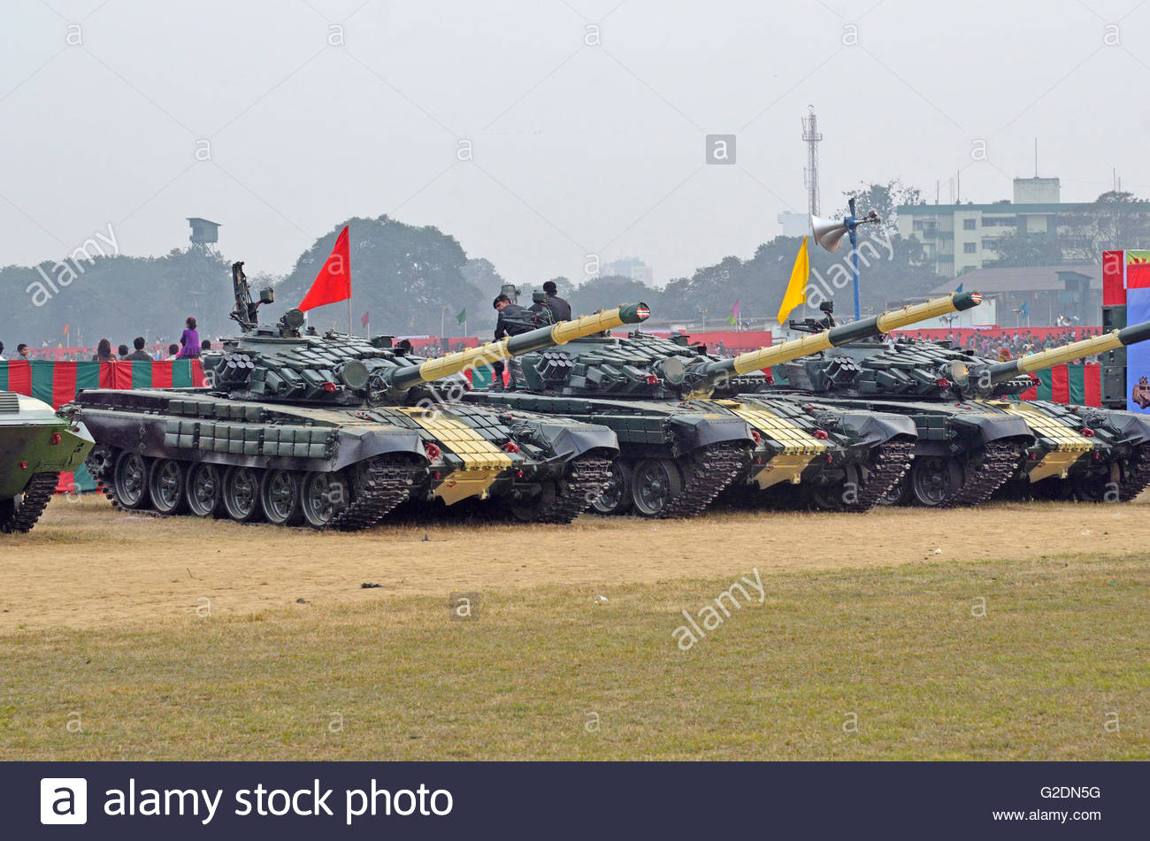
[[[447,354],[438,360],[428,360],[419,365],[398,369],[391,373],[389,384],[392,388],[411,388],[420,383],[443,379],[475,365],[491,364],[531,350],[565,345],[572,339],[601,333],[623,324],[638,324],[645,322],[650,316],[651,310],[645,303],[623,304],[569,322],[538,327],[519,335],[508,335],[499,341]]]

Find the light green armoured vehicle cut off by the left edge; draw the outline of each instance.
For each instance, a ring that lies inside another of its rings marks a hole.
[[[0,532],[31,531],[62,471],[84,463],[92,437],[69,411],[0,392]]]

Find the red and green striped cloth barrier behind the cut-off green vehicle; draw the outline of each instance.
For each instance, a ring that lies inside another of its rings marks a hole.
[[[59,409],[82,388],[189,388],[204,385],[199,360],[143,362],[0,362],[0,391],[17,392]],[[83,466],[61,473],[59,492],[94,491],[95,481]]]

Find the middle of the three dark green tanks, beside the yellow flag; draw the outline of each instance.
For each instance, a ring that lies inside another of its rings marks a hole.
[[[788,499],[797,486],[818,507],[866,510],[906,470],[913,422],[747,394],[766,386],[760,369],[980,300],[957,294],[734,358],[638,332],[590,337],[518,360],[513,391],[465,400],[612,429],[620,455],[599,514],[691,516],[724,492]]]

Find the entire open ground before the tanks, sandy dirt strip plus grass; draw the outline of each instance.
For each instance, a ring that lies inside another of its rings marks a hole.
[[[1148,514],[315,534],[56,500],[0,542],[0,758],[1144,759]]]

